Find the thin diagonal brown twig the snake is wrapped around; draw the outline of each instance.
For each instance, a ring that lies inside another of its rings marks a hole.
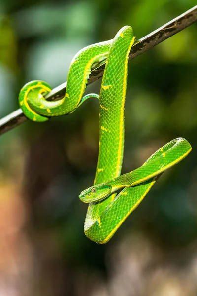
[[[186,11],[185,13],[179,15],[175,19],[171,20],[170,22],[166,23],[159,29],[139,39],[131,48],[129,60],[136,58],[138,55],[142,54],[148,49],[154,47],[167,38],[192,25],[195,21],[197,21],[197,5]],[[97,69],[92,70],[90,79],[88,80],[88,84],[91,84],[92,82],[102,77],[104,66],[105,64]],[[64,97],[65,92],[66,82],[54,88],[45,96],[45,98],[49,101],[61,99]],[[3,117],[2,119],[0,119],[0,135],[25,122],[27,119],[28,118],[25,117],[21,109],[18,109]]]

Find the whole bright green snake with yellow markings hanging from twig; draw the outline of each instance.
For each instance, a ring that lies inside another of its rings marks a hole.
[[[124,149],[124,106],[128,56],[135,37],[130,26],[123,27],[109,41],[80,50],[73,58],[67,77],[65,97],[55,102],[44,99],[51,87],[42,81],[27,83],[20,91],[19,104],[33,121],[70,114],[86,99],[99,98],[99,157],[94,185],[79,195],[89,203],[84,232],[96,243],[110,240],[139,205],[159,176],[181,161],[190,151],[189,142],[177,138],[157,150],[139,168],[120,175]],[[91,67],[106,60],[100,95],[83,96]],[[117,195],[116,191],[123,188]]]

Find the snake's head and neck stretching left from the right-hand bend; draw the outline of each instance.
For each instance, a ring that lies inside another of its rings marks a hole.
[[[186,139],[174,139],[151,155],[141,167],[120,177],[94,185],[82,191],[79,198],[83,202],[101,201],[121,188],[136,186],[148,181],[177,164],[191,150],[191,145]]]

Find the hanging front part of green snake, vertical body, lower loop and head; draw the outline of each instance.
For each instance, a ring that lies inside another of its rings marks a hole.
[[[160,174],[191,151],[191,146],[185,139],[175,139],[155,152],[142,167],[133,171],[132,174],[120,176],[124,148],[127,63],[133,42],[131,27],[124,27],[117,33],[110,47],[99,100],[99,157],[94,186],[90,190],[83,191],[79,196],[84,202],[91,201],[84,232],[88,238],[99,244],[110,240],[143,200]],[[101,185],[102,183],[104,184]],[[138,186],[123,189],[118,196],[114,193],[121,187],[139,183]],[[99,196],[97,195],[97,184],[100,184],[98,185]],[[109,195],[110,186],[113,188],[111,195]],[[93,188],[96,192],[92,192]],[[107,192],[106,196],[109,195],[107,198],[103,197],[103,191]]]

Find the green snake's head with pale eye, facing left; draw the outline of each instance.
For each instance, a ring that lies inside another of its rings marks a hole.
[[[81,201],[86,203],[101,201],[106,198],[111,193],[111,191],[111,185],[101,183],[82,191],[79,195],[79,198]]]

